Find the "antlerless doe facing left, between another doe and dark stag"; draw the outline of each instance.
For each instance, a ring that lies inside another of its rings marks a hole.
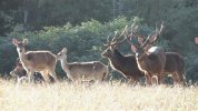
[[[67,73],[68,79],[72,82],[98,81],[107,79],[108,68],[100,61],[71,62],[67,61],[68,50],[63,48],[58,54],[62,70]]]

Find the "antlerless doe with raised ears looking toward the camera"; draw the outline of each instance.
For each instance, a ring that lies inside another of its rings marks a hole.
[[[26,51],[24,47],[28,44],[28,39],[23,39],[22,41],[12,39],[12,43],[17,47],[17,52],[22,67],[27,71],[29,83],[31,82],[34,72],[40,72],[47,83],[50,82],[49,74],[55,81],[58,81],[55,71],[57,58],[52,52],[42,50]]]

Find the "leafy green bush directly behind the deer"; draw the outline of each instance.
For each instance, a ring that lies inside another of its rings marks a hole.
[[[132,22],[138,22],[140,24],[140,31],[145,36],[148,36],[155,30],[155,28],[143,23],[140,18],[127,19],[125,17],[118,17],[106,23],[101,23],[93,19],[88,22],[82,22],[80,26],[72,26],[68,22],[63,27],[46,27],[43,30],[34,32],[24,32],[19,24],[8,37],[0,37],[0,73],[9,73],[18,58],[16,48],[11,43],[12,38],[18,38],[20,40],[28,38],[29,44],[27,46],[27,50],[50,50],[52,53],[57,54],[63,47],[67,47],[69,50],[69,62],[93,61],[101,60],[100,53],[105,49],[102,44],[106,43],[107,37],[113,37],[115,31],[120,32],[123,30],[125,26],[130,26]],[[164,36],[162,33],[162,36],[159,37],[160,39],[155,46],[161,46],[167,51],[178,51],[181,53],[186,59],[187,79],[196,81],[198,79],[198,63],[196,59],[198,49],[195,43],[189,41],[182,46],[188,47],[188,49],[179,49],[180,47],[172,46],[172,41],[162,38]],[[125,54],[131,53],[130,47],[126,46],[126,43],[122,43],[119,48]],[[102,59],[101,61],[107,64],[107,60]],[[61,70],[59,62],[57,65],[57,73],[59,73],[60,77],[65,77],[65,72]]]

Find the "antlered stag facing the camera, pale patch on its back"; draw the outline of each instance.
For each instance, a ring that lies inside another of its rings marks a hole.
[[[132,26],[132,32],[129,38],[135,36],[135,26]],[[164,24],[161,23],[160,30],[156,30],[154,34],[150,34],[146,40],[142,36],[139,36],[139,47],[131,44],[131,50],[136,53],[136,60],[138,68],[145,72],[147,82],[151,84],[151,78],[157,75],[158,81],[161,83],[164,68],[166,63],[166,53],[161,47],[152,47],[152,43],[157,40],[157,37],[161,33]]]

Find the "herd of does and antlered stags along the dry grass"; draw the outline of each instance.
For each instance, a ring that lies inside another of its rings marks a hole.
[[[136,83],[140,78],[146,78],[147,84],[164,83],[166,73],[170,73],[174,83],[185,84],[185,61],[181,54],[177,52],[166,52],[162,47],[155,47],[154,43],[164,30],[164,22],[160,29],[156,29],[154,33],[143,38],[137,31],[138,26],[135,23],[130,28],[126,27],[123,31],[118,34],[115,33],[113,38],[107,38],[107,43],[103,44],[106,50],[101,57],[107,59],[111,69],[120,72],[129,83]],[[137,39],[138,43],[132,43]],[[118,47],[126,42],[135,54],[122,54]],[[50,51],[27,51],[26,44],[28,39],[18,41],[12,39],[12,43],[17,47],[19,62],[11,75],[17,75],[18,81],[21,80],[21,72],[26,70],[29,82],[32,82],[34,72],[40,72],[43,81],[49,83],[50,77],[57,82],[56,65],[60,61],[62,70],[71,81],[99,81],[102,82],[109,74],[108,65],[100,61],[89,62],[71,62],[67,61],[69,51],[63,48],[57,56]]]

